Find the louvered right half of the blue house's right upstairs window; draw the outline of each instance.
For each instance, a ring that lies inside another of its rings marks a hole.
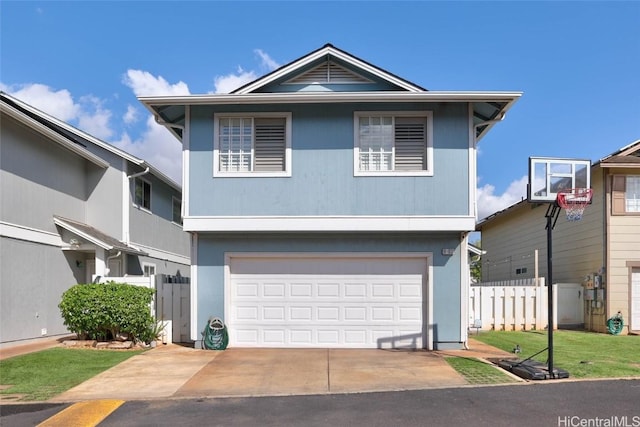
[[[395,170],[427,168],[427,123],[422,117],[398,117],[395,122]]]

